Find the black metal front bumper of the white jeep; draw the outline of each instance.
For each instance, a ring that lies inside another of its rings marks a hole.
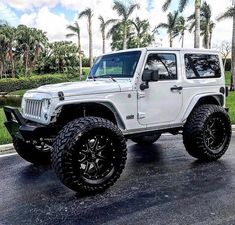
[[[30,140],[48,136],[46,126],[30,123],[22,117],[17,108],[6,106],[4,112],[7,119],[4,124],[12,138]]]

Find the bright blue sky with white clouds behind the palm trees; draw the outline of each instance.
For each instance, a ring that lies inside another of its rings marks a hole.
[[[122,0],[125,4],[129,0]],[[133,13],[133,18],[139,16],[141,19],[148,19],[151,28],[154,29],[161,22],[166,22],[167,12],[162,11],[162,5],[165,0],[133,0],[140,4],[140,9]],[[202,0],[204,1],[204,0]],[[231,0],[207,0],[211,5],[212,17],[216,23],[213,34],[212,46],[218,45],[222,41],[231,41],[232,38],[232,20],[217,22],[216,18],[221,15],[229,6]],[[66,26],[78,21],[81,29],[81,44],[85,54],[88,55],[88,31],[85,18],[78,20],[78,14],[90,7],[94,11],[93,17],[93,47],[94,55],[98,56],[102,52],[102,39],[99,30],[98,17],[102,15],[105,19],[118,18],[118,15],[112,10],[113,0],[0,0],[0,20],[6,20],[12,26],[25,24],[30,27],[36,27],[47,32],[49,41],[71,40],[76,42],[75,38],[67,39],[65,35],[69,33]],[[176,10],[178,0],[172,0],[170,11]],[[189,0],[189,4],[183,16],[187,17],[194,12],[194,0]],[[156,35],[156,43],[162,47],[168,47],[168,35],[166,31],[160,30]],[[174,39],[174,47],[180,47],[179,38]],[[193,47],[193,34],[186,33],[185,47]],[[110,40],[107,41],[106,51],[111,51]]]

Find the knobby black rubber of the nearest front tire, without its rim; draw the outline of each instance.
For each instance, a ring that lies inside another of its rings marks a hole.
[[[73,151],[75,151],[73,146],[79,141],[78,134],[81,137],[82,134],[96,127],[109,129],[110,132],[116,135],[119,142],[119,151],[121,151],[121,161],[119,162],[119,167],[107,182],[98,185],[89,185],[75,174],[71,161]],[[83,193],[97,193],[109,188],[116,182],[124,169],[126,157],[126,141],[117,126],[103,118],[84,117],[71,121],[59,132],[53,144],[52,167],[61,182],[70,189]]]

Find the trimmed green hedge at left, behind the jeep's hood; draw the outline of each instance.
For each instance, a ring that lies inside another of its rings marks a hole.
[[[35,75],[20,78],[4,78],[0,80],[0,92],[11,92],[21,89],[32,89],[45,84],[69,81],[65,75]]]

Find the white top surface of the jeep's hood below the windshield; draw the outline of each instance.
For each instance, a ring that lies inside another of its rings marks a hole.
[[[44,85],[39,88],[28,91],[27,93],[45,93],[52,97],[58,97],[58,92],[63,92],[65,97],[76,95],[113,93],[120,91],[131,91],[132,84],[130,80],[100,80],[100,81],[81,81],[67,82],[59,84]]]

